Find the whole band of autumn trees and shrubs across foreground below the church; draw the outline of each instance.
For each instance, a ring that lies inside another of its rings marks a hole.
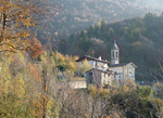
[[[153,91],[158,91],[154,87],[153,90],[151,87],[136,87],[131,80],[128,80],[123,87],[106,89],[89,84],[87,90],[73,90],[67,86],[68,82],[57,81],[59,69],[57,65],[64,64],[64,73],[70,75],[77,69],[78,65],[74,62],[77,56],[43,52],[39,63],[35,63],[28,61],[25,55],[25,52],[1,55],[5,58],[0,62],[0,117],[2,118],[40,118],[42,115],[59,118],[72,117],[75,114],[80,117],[90,117],[90,114],[113,116],[112,113],[116,113],[113,110],[115,108],[127,118],[137,115],[149,118],[151,115],[155,117],[156,113],[160,116],[163,114],[163,100],[152,95]],[[83,71],[90,69],[87,61],[83,63],[84,66],[80,68]],[[156,84],[156,88],[160,86]],[[99,113],[100,110],[102,113]]]

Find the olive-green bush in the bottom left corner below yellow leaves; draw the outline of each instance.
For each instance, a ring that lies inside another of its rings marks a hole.
[[[23,103],[23,100],[9,94],[0,94],[0,117],[10,118],[10,117],[33,117],[32,113],[27,108],[28,105]]]

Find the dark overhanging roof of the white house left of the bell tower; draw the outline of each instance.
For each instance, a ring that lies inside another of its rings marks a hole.
[[[75,61],[75,62],[82,62],[82,61],[84,61],[84,60],[87,60],[87,61],[97,61],[97,62],[102,62],[102,63],[110,64],[110,62],[108,62],[108,61],[103,61],[103,60],[99,60],[99,58],[96,58],[96,57],[91,57],[91,56],[89,56],[89,55],[85,55],[85,56],[78,58],[78,60]]]

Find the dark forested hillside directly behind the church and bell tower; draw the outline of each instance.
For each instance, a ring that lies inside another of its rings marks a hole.
[[[163,54],[163,15],[148,13],[143,18],[137,17],[113,24],[101,23],[72,35],[62,40],[60,51],[66,54],[101,55],[110,61],[113,40],[121,48],[121,62],[134,62],[137,66],[138,80],[152,80],[150,70],[159,69]],[[159,77],[159,79],[161,79]]]

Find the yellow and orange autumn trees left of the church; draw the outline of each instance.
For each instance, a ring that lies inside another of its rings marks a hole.
[[[51,93],[57,65],[64,66],[66,74],[73,75],[78,67],[77,56],[43,52],[39,63],[35,63],[26,55],[26,52],[18,51],[1,54],[0,117],[59,116],[60,101],[54,100]]]

